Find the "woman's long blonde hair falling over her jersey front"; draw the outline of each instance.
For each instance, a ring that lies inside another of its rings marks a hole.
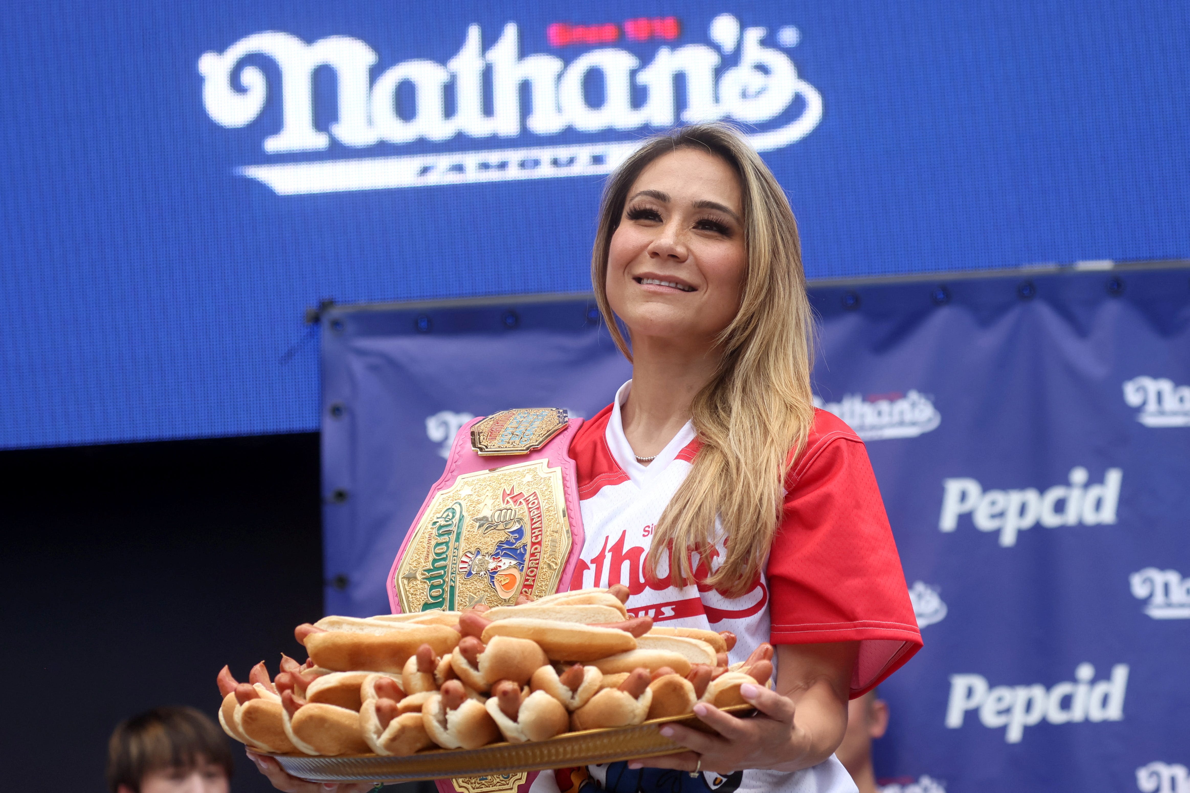
[[[797,224],[781,184],[733,127],[699,124],[647,140],[608,178],[591,251],[591,285],[620,351],[632,352],[607,300],[607,258],[628,190],[658,157],[702,149],[720,157],[740,181],[747,252],[739,311],[716,339],[722,353],[714,377],[690,405],[702,448],[689,476],[662,514],[646,571],[656,575],[663,554],[670,580],[700,584],[729,596],[757,581],[781,521],[789,460],[814,421],[810,395],[814,322],[806,296]],[[728,535],[726,559],[710,571],[706,549],[715,517]],[[697,571],[691,554],[700,555]]]

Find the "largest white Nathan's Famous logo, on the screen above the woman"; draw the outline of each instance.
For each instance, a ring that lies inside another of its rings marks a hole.
[[[624,33],[633,42],[668,42],[681,36],[681,25],[672,18],[630,20]],[[551,25],[547,31],[553,46],[606,44],[619,36],[616,24]],[[224,127],[252,124],[269,92],[280,93],[281,128],[263,144],[269,155],[326,151],[332,139],[350,149],[371,149],[456,138],[507,141],[526,131],[536,137],[566,130],[600,136],[572,145],[540,146],[534,137],[522,139],[522,145],[532,145],[520,149],[455,145],[453,151],[430,155],[239,169],[282,195],[608,174],[638,145],[640,132],[632,139],[625,133],[678,122],[734,119],[757,130],[750,139],[759,151],[787,146],[818,126],[822,99],[781,49],[800,40],[795,27],[779,29],[770,43],[766,27],[741,27],[724,13],[712,20],[708,38],[714,46],[658,46],[647,64],[638,54],[614,46],[588,50],[566,63],[556,55],[522,55],[514,21],[494,43],[486,43],[481,26],[472,24],[458,51],[443,63],[411,58],[372,78],[380,58],[357,38],[328,36],[306,43],[268,31],[245,36],[223,52],[203,54],[198,67],[202,103]],[[273,77],[262,68],[264,61],[273,62]],[[326,130],[315,124],[331,109],[321,106],[326,99],[315,96],[319,69],[336,77],[337,113]],[[527,108],[521,105],[522,87]]]

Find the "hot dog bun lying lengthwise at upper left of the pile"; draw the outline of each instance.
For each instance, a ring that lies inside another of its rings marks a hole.
[[[458,640],[458,632],[445,625],[407,624],[375,634],[343,630],[314,632],[306,637],[306,649],[314,663],[334,672],[368,669],[400,673],[421,644],[430,644],[434,653],[441,654],[453,649]]]

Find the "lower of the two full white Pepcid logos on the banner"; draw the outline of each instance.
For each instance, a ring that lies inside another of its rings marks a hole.
[[[1081,722],[1119,722],[1123,718],[1123,699],[1128,687],[1128,665],[1116,663],[1107,680],[1096,680],[1095,667],[1079,663],[1075,680],[1046,688],[1035,682],[1026,686],[988,686],[982,674],[952,674],[951,697],[946,705],[946,726],[963,726],[967,711],[979,712],[979,723],[989,729],[1007,728],[1004,741],[1020,743],[1025,728],[1040,724],[1078,724]]]

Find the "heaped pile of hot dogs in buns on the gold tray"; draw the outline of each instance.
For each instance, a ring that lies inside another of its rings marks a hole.
[[[679,716],[699,701],[743,704],[765,685],[772,647],[728,665],[731,632],[653,628],[628,618],[627,590],[560,592],[514,606],[325,617],[295,636],[305,663],[281,656],[248,682],[227,667],[219,723],[274,754],[411,755],[544,741],[568,730]]]

